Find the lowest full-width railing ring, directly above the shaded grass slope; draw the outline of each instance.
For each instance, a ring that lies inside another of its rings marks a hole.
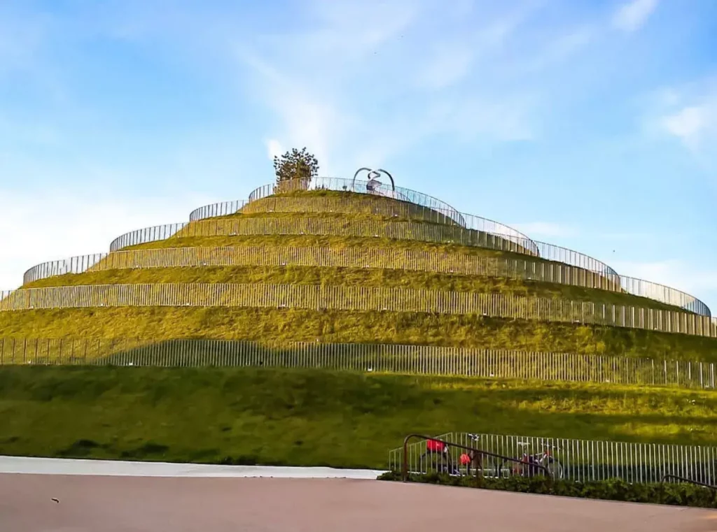
[[[717,365],[712,362],[401,344],[0,337],[0,364],[267,366],[712,390],[717,387]]]

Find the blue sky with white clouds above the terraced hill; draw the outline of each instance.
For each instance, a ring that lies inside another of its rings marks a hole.
[[[714,0],[0,0],[0,288],[381,166],[717,311]]]

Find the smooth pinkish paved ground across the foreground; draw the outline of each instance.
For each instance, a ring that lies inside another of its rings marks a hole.
[[[2,532],[472,530],[712,532],[717,511],[376,480],[0,475]]]

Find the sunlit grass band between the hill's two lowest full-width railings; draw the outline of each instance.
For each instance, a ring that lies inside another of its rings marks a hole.
[[[717,362],[717,340],[617,327],[391,312],[105,308],[0,312],[0,336],[427,344]]]

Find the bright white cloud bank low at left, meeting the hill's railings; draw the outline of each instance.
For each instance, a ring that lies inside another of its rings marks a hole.
[[[103,253],[123,233],[189,220],[194,208],[217,201],[206,195],[92,197],[57,190],[17,193],[0,190],[0,289],[22,284],[37,263]]]

